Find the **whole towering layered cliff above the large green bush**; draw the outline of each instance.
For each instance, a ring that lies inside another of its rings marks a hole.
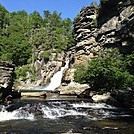
[[[75,63],[91,59],[104,47],[134,50],[134,0],[103,0],[82,9],[74,20]]]

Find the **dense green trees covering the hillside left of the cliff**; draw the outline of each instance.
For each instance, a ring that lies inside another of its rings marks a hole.
[[[17,66],[17,79],[25,79],[25,65],[34,65],[37,50],[44,51],[42,58],[48,60],[52,50],[61,52],[73,44],[72,21],[62,19],[61,13],[44,11],[43,18],[37,11],[9,13],[0,5],[0,60]]]

